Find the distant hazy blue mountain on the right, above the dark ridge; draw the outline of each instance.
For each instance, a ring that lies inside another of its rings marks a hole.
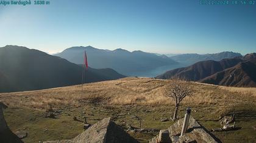
[[[170,56],[170,58],[178,62],[194,64],[199,61],[207,61],[207,60],[221,61],[222,59],[235,58],[236,56],[241,57],[242,55],[240,53],[233,53],[233,52],[221,52],[221,53],[204,54],[204,55],[191,53],[191,54],[181,54],[176,56]]]

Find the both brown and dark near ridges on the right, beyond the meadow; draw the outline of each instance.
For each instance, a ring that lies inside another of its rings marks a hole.
[[[255,73],[256,53],[251,53],[221,61],[197,62],[188,67],[166,71],[156,78],[181,78],[216,85],[256,87]]]

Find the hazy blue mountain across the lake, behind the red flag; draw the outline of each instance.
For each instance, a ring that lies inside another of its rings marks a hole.
[[[148,71],[164,65],[177,64],[167,56],[157,56],[142,51],[129,52],[118,48],[102,50],[91,46],[67,48],[55,56],[65,58],[75,64],[82,64],[84,50],[87,52],[88,64],[93,68],[113,68],[123,75],[134,76],[139,71]]]

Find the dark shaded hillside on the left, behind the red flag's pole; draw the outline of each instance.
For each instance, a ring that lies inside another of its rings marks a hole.
[[[38,90],[81,83],[82,67],[39,50],[7,45],[0,48],[0,92]],[[116,71],[88,68],[85,82],[124,78]]]

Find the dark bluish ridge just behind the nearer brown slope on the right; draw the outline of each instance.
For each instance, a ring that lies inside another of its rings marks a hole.
[[[176,68],[174,70],[166,71],[156,78],[185,78],[188,81],[199,81],[200,79],[213,75],[218,71],[233,67],[241,61],[243,60],[240,58],[222,59],[221,61],[201,61],[188,67]]]

